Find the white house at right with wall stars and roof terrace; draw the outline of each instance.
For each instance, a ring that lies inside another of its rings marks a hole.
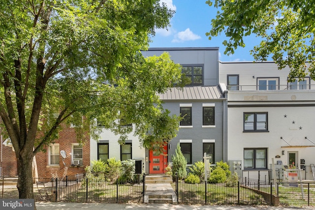
[[[219,69],[230,167],[248,176],[272,169],[272,160],[278,168],[315,164],[315,81],[287,82],[289,68],[278,70],[274,62],[220,62]],[[312,177],[310,167],[302,177]]]

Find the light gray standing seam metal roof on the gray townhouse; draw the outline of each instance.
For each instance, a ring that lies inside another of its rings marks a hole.
[[[223,99],[223,94],[219,85],[217,86],[191,86],[181,88],[171,88],[163,94],[159,94],[160,100],[203,100],[203,99]]]

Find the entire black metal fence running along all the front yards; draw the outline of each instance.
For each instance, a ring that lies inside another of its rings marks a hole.
[[[146,190],[145,175],[134,182],[106,182],[77,175],[58,179],[34,178],[36,201],[142,203]],[[17,178],[0,177],[0,198],[18,198]],[[315,206],[315,183],[273,184],[264,179],[240,178],[237,183],[186,184],[175,181],[173,189],[179,204]]]

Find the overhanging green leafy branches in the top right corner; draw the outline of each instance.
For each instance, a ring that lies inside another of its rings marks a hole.
[[[290,68],[289,81],[303,79],[307,67],[315,79],[315,19],[314,0],[207,0],[218,8],[212,28],[206,33],[219,36],[224,33],[224,54],[245,47],[244,37],[256,34],[261,39],[251,51],[255,60],[265,61],[269,56],[279,69]],[[308,61],[309,65],[306,64]]]

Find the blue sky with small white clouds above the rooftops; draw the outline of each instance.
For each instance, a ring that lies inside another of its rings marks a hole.
[[[219,47],[221,61],[252,61],[250,54],[253,46],[258,45],[260,39],[255,36],[246,37],[245,48],[238,48],[232,55],[225,55],[222,42],[224,34],[212,37],[205,35],[211,29],[211,20],[216,17],[217,9],[206,4],[206,0],[161,0],[169,8],[176,10],[171,19],[168,30],[157,29],[156,36],[152,37],[151,48],[163,47]]]

